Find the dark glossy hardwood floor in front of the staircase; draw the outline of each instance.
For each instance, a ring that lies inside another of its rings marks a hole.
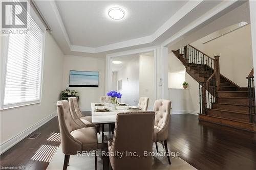
[[[168,148],[198,169],[256,169],[256,133],[172,115]]]

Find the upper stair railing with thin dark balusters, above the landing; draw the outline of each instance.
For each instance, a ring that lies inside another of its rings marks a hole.
[[[183,59],[186,59],[186,66],[199,67],[200,70],[203,70],[204,76],[211,76],[214,70],[215,59],[204,54],[192,45],[186,45],[180,48],[179,53],[183,54]]]

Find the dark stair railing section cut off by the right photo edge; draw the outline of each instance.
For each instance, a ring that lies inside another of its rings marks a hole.
[[[249,114],[250,114],[250,123],[256,123],[255,116],[255,91],[254,91],[254,76],[253,70],[246,78],[248,83],[248,98],[249,98]]]

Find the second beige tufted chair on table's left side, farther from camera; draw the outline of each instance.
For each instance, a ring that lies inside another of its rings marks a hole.
[[[79,109],[76,97],[69,98],[69,107],[70,107],[70,113],[78,125],[83,127],[95,127],[95,125],[92,123],[92,116],[82,115],[82,112]]]

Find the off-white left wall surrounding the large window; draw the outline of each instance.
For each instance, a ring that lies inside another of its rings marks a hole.
[[[1,62],[1,64],[5,63]],[[41,103],[1,110],[1,147],[9,139],[37,124],[42,119],[57,113],[56,102],[59,100],[62,86],[62,66],[63,54],[53,37],[47,32]]]

